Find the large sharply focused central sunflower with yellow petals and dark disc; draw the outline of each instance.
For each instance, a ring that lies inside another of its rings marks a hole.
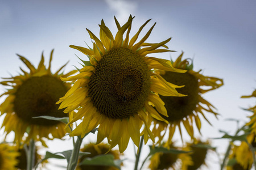
[[[80,107],[77,113],[70,116],[69,124],[84,117],[81,124],[72,131],[71,136],[84,137],[86,133],[100,125],[97,143],[108,138],[110,148],[118,145],[120,152],[125,151],[130,138],[139,146],[139,137],[142,134],[145,143],[148,138],[154,141],[149,129],[151,122],[148,122],[148,115],[168,123],[159,115],[160,113],[168,116],[164,103],[157,94],[184,96],[175,90],[179,86],[166,82],[151,69],[179,73],[184,73],[185,70],[174,69],[171,62],[166,59],[146,57],[151,53],[170,52],[171,50],[158,48],[161,46],[167,48],[164,44],[171,39],[160,43],[144,42],[154,28],[154,24],[135,44],[139,33],[150,20],[147,20],[129,41],[132,21],[133,18],[130,16],[128,22],[121,27],[115,19],[118,32],[113,37],[102,20],[99,25],[100,39],[87,29],[94,41],[93,49],[71,45],[71,48],[86,54],[90,61],[83,61],[85,66],[80,69],[79,74],[62,79],[76,80],[76,82],[58,102],[61,103],[60,109],[65,108],[65,113]],[[126,37],[123,40],[125,32]],[[154,104],[159,113],[150,104]],[[143,123],[144,129],[140,134]]]

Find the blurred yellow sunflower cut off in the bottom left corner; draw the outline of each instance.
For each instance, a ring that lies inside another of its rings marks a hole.
[[[14,146],[0,143],[0,170],[15,170],[15,165],[18,164],[17,156],[19,153],[15,151]]]

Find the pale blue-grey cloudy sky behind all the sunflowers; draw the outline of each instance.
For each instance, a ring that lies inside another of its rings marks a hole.
[[[0,77],[17,75],[20,73],[20,66],[23,69],[26,67],[16,54],[27,57],[34,65],[38,65],[42,52],[47,63],[52,49],[55,49],[52,71],[69,61],[64,72],[67,73],[75,69],[74,66],[80,67],[75,54],[86,58],[77,50],[69,48],[69,45],[85,46],[85,42],[92,45],[85,28],[99,36],[98,24],[104,19],[115,35],[117,28],[114,16],[124,24],[131,14],[135,18],[130,34],[134,35],[146,20],[152,19],[141,35],[156,22],[147,42],[161,42],[172,37],[167,45],[171,50],[177,51],[154,54],[154,57],[176,59],[183,51],[184,58],[193,58],[194,70],[202,69],[201,73],[204,75],[224,79],[223,87],[203,95],[217,108],[220,116],[217,120],[211,114],[205,113],[212,126],[203,121],[202,138],[220,137],[220,129],[234,134],[236,123],[225,119],[237,118],[242,125],[249,120],[247,116],[250,113],[241,108],[255,105],[255,99],[240,98],[242,95],[250,95],[256,88],[255,7],[256,2],[250,0],[0,1]],[[4,91],[5,87],[0,86],[0,93]],[[1,121],[2,118],[0,123]],[[188,135],[183,134],[189,140]],[[200,137],[198,131],[196,136]],[[88,141],[95,141],[96,135],[88,138]],[[174,138],[180,143],[179,134],[175,133]],[[52,152],[72,148],[71,140],[49,141],[48,145],[48,150]],[[212,140],[212,145],[218,148],[220,155],[224,155],[228,140]],[[147,153],[145,146],[142,160]],[[129,160],[122,169],[131,169],[134,160],[131,141],[125,155]],[[218,168],[217,155],[209,155],[208,169]]]

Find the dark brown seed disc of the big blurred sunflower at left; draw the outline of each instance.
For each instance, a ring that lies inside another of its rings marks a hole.
[[[23,121],[34,125],[56,125],[58,121],[38,116],[67,116],[58,110],[56,101],[67,92],[61,80],[50,75],[33,76],[27,79],[15,93],[14,111]]]

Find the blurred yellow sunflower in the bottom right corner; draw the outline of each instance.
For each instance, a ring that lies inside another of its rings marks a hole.
[[[255,146],[254,146],[255,147]],[[249,170],[253,165],[253,154],[246,142],[240,146],[233,145],[232,154],[229,155],[227,170]]]

